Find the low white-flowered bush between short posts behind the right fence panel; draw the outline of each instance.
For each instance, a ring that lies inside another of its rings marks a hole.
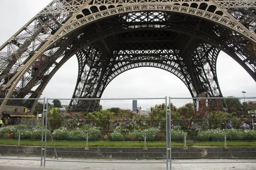
[[[224,141],[224,132],[222,130],[206,130],[198,132],[198,141]]]

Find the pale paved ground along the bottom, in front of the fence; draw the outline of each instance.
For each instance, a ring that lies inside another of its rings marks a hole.
[[[0,159],[0,170],[42,170],[40,161]],[[45,170],[166,170],[166,164],[116,164],[47,161]],[[172,170],[256,170],[256,163],[172,164]]]

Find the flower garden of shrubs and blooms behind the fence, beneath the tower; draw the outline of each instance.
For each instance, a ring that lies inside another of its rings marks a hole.
[[[227,142],[230,142],[227,144],[231,146],[255,146],[256,131],[242,126],[251,120],[250,115],[235,108],[227,111],[212,108],[201,107],[195,111],[191,103],[181,108],[172,106],[172,146],[183,146],[184,135],[187,146],[223,146],[224,133]],[[147,146],[166,145],[164,104],[155,105],[147,115],[122,109],[81,113],[79,116],[72,113],[62,116],[58,109],[51,109],[48,113],[52,137],[57,146],[72,146],[72,142],[76,146],[84,146],[87,138],[89,146],[143,146],[144,140]],[[40,122],[37,127],[4,127],[0,130],[0,144],[17,144],[20,133],[22,144],[41,145],[41,125]],[[51,142],[50,130],[47,130],[47,140]]]

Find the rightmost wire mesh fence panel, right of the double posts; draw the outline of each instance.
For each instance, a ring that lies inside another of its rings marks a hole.
[[[256,98],[169,98],[172,163],[256,162]]]

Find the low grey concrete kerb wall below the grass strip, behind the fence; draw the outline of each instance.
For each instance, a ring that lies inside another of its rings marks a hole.
[[[166,147],[56,147],[71,159],[166,159]],[[2,156],[40,157],[41,147],[0,145]],[[54,157],[47,147],[47,157]],[[255,159],[256,147],[172,147],[172,159]],[[0,157],[1,159],[1,157]]]

